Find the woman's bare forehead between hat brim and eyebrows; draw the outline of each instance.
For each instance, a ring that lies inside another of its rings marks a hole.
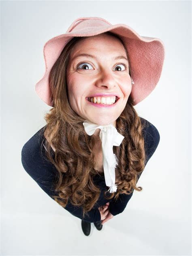
[[[86,54],[87,56],[85,56]],[[75,60],[77,56],[78,58],[83,55],[84,57],[92,57],[99,54],[111,57],[122,55],[126,58],[126,51],[118,38],[107,34],[100,34],[83,38],[77,42],[70,53],[70,60]]]

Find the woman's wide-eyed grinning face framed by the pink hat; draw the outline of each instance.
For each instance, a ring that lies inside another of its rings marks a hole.
[[[69,104],[78,115],[116,127],[132,89],[126,52],[117,38],[100,34],[78,42],[69,58],[66,80]],[[88,101],[91,96],[96,96],[93,102]],[[114,96],[117,102],[109,105]]]

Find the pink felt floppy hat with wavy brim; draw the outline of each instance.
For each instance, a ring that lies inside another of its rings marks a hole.
[[[162,72],[164,43],[159,38],[140,36],[125,24],[112,25],[100,17],[81,17],[71,24],[65,34],[51,38],[44,45],[45,74],[36,83],[35,91],[47,105],[52,107],[49,73],[68,41],[74,36],[95,36],[107,31],[117,34],[127,49],[134,81],[130,94],[134,105],[154,90]]]

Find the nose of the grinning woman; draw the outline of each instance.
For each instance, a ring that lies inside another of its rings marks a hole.
[[[97,87],[106,87],[109,90],[117,85],[113,74],[109,70],[101,70],[98,75],[98,79],[96,80]]]

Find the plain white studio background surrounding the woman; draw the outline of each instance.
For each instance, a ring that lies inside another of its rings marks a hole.
[[[81,220],[23,169],[21,149],[51,108],[34,91],[44,44],[90,16],[160,38],[165,60],[156,88],[135,106],[160,133],[143,191],[86,237]],[[2,255],[191,255],[190,19],[190,1],[1,1]]]

